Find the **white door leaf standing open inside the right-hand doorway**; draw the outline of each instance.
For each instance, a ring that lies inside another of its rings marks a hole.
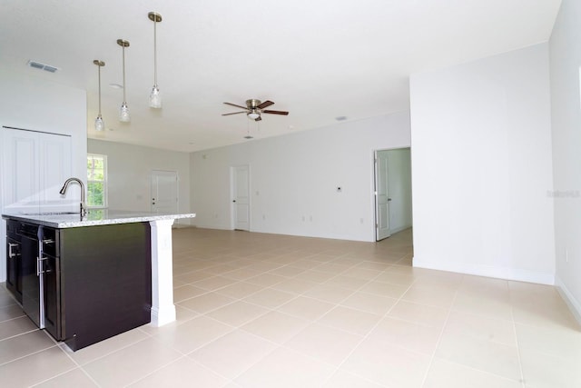
[[[376,240],[391,235],[389,229],[388,151],[375,152],[375,230]]]

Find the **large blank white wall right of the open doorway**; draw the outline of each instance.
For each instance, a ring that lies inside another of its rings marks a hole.
[[[548,44],[410,77],[414,265],[553,284]]]

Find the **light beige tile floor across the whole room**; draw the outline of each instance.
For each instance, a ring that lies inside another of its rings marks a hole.
[[[554,287],[411,267],[379,244],[173,231],[178,320],[72,353],[0,287],[3,387],[581,387]]]

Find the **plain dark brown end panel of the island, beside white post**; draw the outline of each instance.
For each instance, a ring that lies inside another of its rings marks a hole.
[[[149,223],[59,229],[60,338],[73,350],[151,321]]]

